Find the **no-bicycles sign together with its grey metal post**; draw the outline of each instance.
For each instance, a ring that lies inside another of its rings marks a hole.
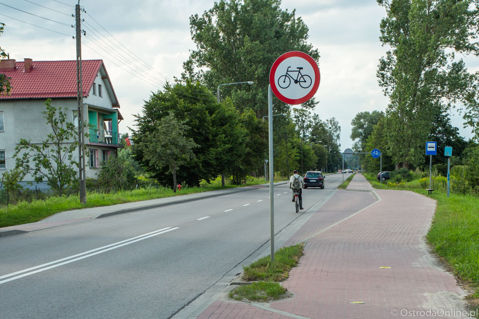
[[[274,192],[273,192],[273,102],[272,94],[286,104],[297,105],[311,99],[319,87],[319,67],[304,52],[291,51],[274,61],[269,71],[268,127],[269,127],[269,219],[271,262],[274,261]]]

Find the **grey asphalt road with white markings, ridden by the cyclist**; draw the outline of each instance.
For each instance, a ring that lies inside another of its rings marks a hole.
[[[344,178],[350,174],[345,174]],[[304,189],[308,209],[330,194]],[[170,318],[269,240],[269,189],[0,238],[3,318]],[[275,231],[300,214],[274,188]]]

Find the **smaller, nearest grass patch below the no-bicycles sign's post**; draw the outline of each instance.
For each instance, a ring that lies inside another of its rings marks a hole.
[[[258,282],[251,285],[239,286],[228,295],[230,298],[241,301],[268,302],[284,297],[286,289],[278,283]]]

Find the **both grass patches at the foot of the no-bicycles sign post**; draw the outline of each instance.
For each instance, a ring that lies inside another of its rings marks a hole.
[[[251,285],[242,285],[230,292],[235,300],[272,301],[286,296],[287,291],[279,283],[289,277],[291,268],[297,266],[303,255],[304,243],[278,249],[274,253],[274,262],[270,256],[263,257],[249,266],[243,267],[242,279],[257,281]]]

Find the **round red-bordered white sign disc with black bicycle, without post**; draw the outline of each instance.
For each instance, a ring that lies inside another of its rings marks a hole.
[[[319,87],[316,61],[300,51],[284,53],[269,72],[271,91],[282,102],[301,104],[314,96]]]

